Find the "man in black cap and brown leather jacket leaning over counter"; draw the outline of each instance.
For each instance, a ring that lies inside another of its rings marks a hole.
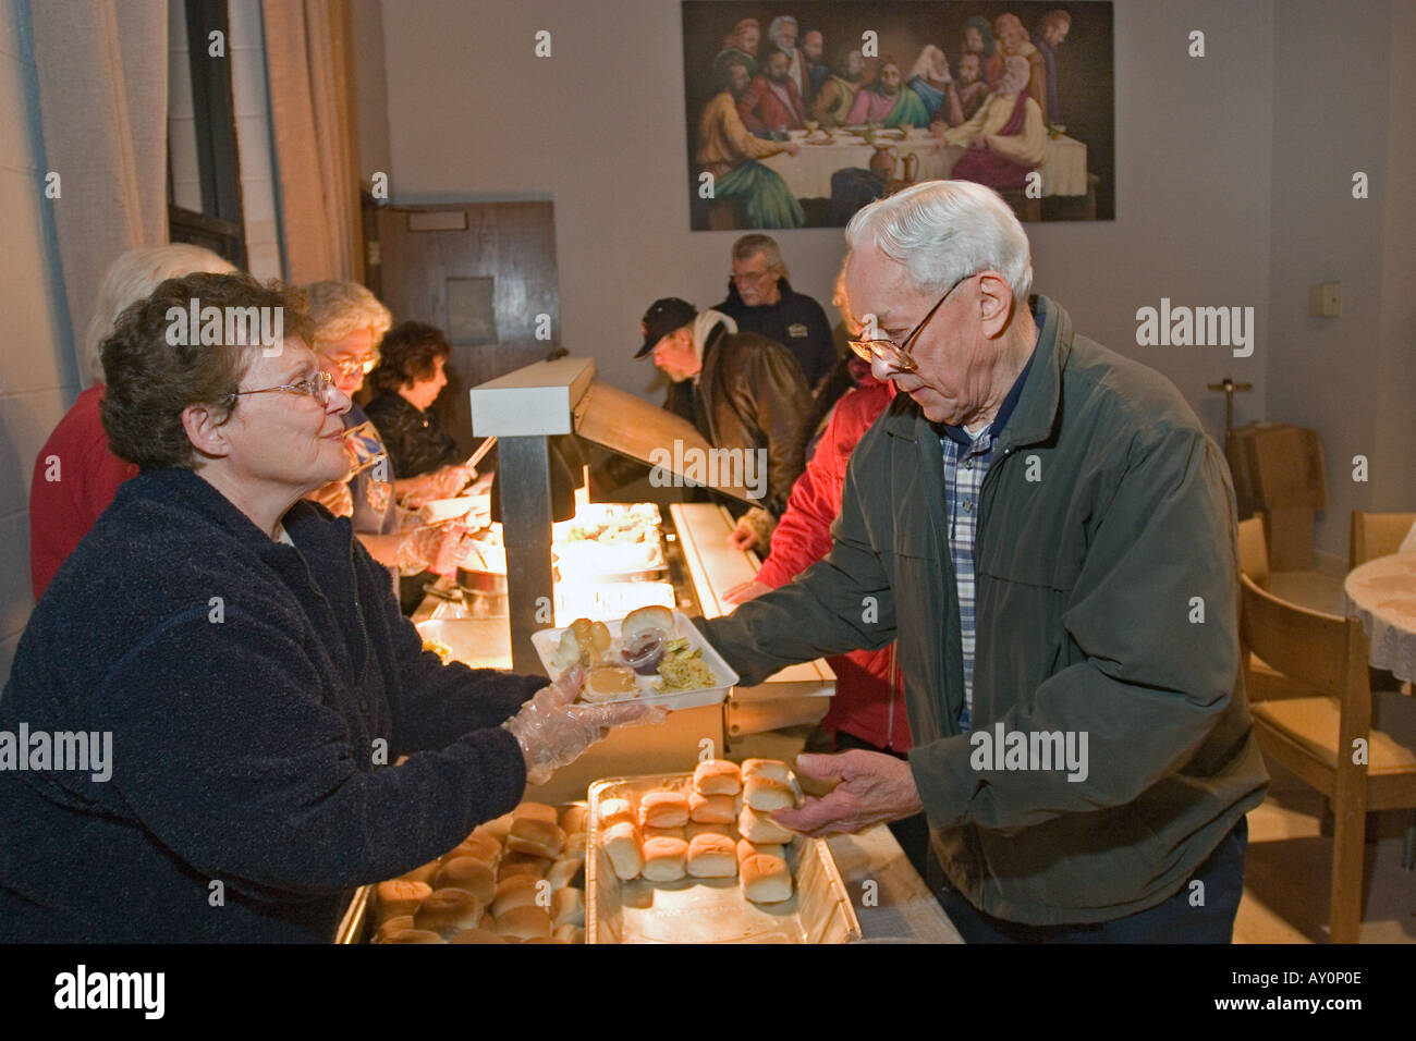
[[[787,350],[715,310],[700,313],[687,300],[656,300],[640,322],[644,341],[636,358],[651,354],[674,381],[666,408],[698,428],[721,449],[766,449],[767,480],[760,508],[733,531],[739,547],[766,551],[775,518],[806,463],[813,414],[811,391]]]

